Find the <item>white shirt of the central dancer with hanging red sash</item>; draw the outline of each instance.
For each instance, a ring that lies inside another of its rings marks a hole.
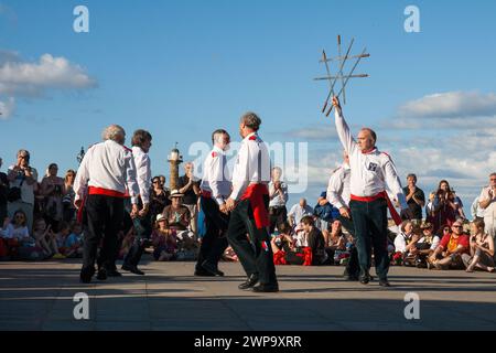
[[[241,142],[233,171],[233,193],[229,197],[237,201],[250,183],[268,183],[269,181],[269,151],[258,135],[251,132]]]

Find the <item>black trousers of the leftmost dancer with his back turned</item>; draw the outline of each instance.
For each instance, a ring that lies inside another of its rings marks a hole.
[[[85,240],[83,269],[95,267],[98,245],[103,238],[98,268],[111,267],[118,250],[117,235],[122,227],[123,200],[106,195],[88,195],[85,202]]]

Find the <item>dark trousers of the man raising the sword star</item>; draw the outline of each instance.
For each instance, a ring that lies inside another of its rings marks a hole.
[[[357,238],[358,261],[360,274],[370,270],[371,247],[374,247],[374,260],[379,279],[387,279],[389,270],[388,256],[388,218],[387,202],[378,199],[371,202],[359,202],[352,200],[353,224]]]

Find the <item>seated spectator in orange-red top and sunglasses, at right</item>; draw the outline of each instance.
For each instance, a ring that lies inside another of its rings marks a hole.
[[[462,255],[470,254],[470,240],[462,229],[462,220],[456,220],[451,226],[452,233],[443,236],[434,253],[428,258],[428,268],[464,268]]]

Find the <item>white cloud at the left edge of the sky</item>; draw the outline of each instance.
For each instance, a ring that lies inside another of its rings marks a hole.
[[[18,97],[41,97],[52,90],[87,89],[97,82],[86,71],[62,56],[43,54],[39,62],[25,62],[18,53],[0,51],[0,104],[9,117]]]

